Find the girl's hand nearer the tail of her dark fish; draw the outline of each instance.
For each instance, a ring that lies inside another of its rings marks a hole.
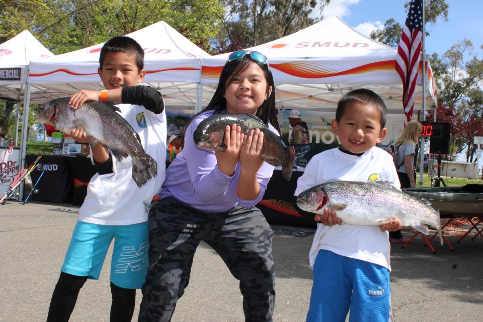
[[[253,176],[263,165],[263,132],[260,129],[251,130],[243,138],[240,149],[241,175]]]

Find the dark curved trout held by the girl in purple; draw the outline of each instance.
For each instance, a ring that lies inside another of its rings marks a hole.
[[[260,129],[263,132],[262,158],[274,167],[282,166],[282,176],[290,181],[292,176],[295,150],[286,146],[280,137],[272,132],[258,117],[251,114],[213,114],[201,121],[193,133],[195,144],[205,150],[224,151],[223,143],[227,125],[236,124],[241,127],[241,133],[248,135],[250,130]]]

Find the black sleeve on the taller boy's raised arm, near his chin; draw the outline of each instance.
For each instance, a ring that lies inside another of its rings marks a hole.
[[[125,86],[122,88],[121,102],[142,105],[154,114],[165,109],[165,102],[161,93],[150,86]]]

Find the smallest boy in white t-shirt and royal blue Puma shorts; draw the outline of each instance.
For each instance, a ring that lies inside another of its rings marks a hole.
[[[341,147],[312,157],[298,179],[295,195],[330,181],[399,180],[386,151],[375,147],[387,133],[386,106],[374,92],[349,92],[338,103],[331,125]],[[388,224],[344,224],[334,210],[316,214],[310,267],[313,285],[307,321],[388,321],[391,315],[388,232],[400,229],[400,220]]]

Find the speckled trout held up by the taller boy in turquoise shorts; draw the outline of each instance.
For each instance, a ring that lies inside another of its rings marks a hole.
[[[37,121],[50,124],[64,133],[83,127],[91,146],[99,142],[118,160],[130,155],[132,178],[138,187],[157,175],[156,160],[144,152],[139,135],[116,113],[119,108],[104,102],[88,101],[82,108],[73,110],[68,105],[69,100],[70,97],[62,97],[42,104]]]

